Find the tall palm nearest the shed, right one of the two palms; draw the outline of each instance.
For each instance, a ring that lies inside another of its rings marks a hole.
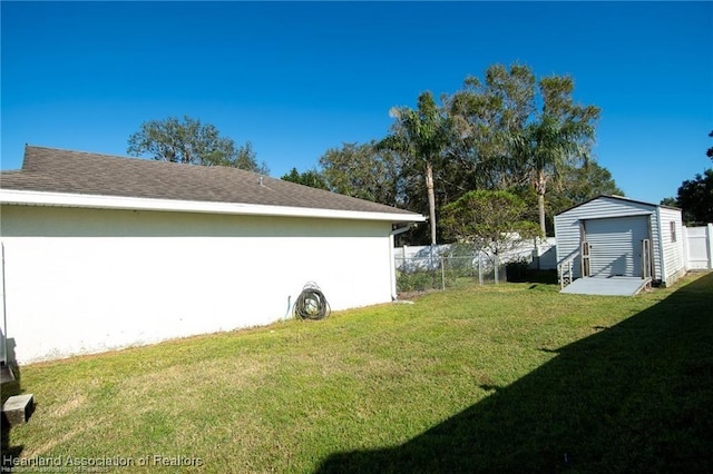
[[[539,81],[543,108],[537,120],[529,124],[521,137],[520,154],[528,164],[530,179],[537,192],[539,225],[545,225],[545,195],[550,185],[558,185],[568,166],[586,165],[594,142],[595,121],[599,109],[574,102],[570,77],[550,76]]]

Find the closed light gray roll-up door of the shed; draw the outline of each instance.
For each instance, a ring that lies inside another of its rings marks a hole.
[[[648,236],[648,216],[585,221],[592,276],[642,276],[642,240]]]

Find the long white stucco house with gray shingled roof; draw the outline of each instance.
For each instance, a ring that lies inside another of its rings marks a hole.
[[[265,325],[305,284],[392,300],[393,235],[423,216],[224,167],[28,146],[0,174],[18,363]]]

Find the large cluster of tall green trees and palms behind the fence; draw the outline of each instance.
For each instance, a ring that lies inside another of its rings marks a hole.
[[[452,241],[437,218],[473,190],[516,195],[526,204],[524,219],[539,223],[543,234],[561,210],[624,195],[592,154],[599,109],[575,101],[568,76],[494,65],[438,101],[426,91],[416,107],[389,113],[382,139],[330,148],[319,169],[283,179],[428,215],[429,226],[410,233],[412,244]]]

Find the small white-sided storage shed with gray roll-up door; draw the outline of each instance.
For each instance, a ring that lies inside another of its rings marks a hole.
[[[555,216],[557,263],[574,278],[651,278],[672,285],[685,274],[681,209],[598,196]]]

